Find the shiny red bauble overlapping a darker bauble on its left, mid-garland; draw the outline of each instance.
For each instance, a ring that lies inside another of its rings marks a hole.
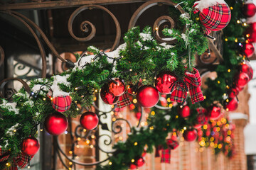
[[[125,91],[124,81],[120,79],[114,79],[114,81],[108,82],[108,90],[113,96],[122,96]]]

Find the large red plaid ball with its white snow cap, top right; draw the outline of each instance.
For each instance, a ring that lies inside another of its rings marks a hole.
[[[231,18],[231,11],[228,4],[223,0],[200,0],[196,1],[194,13],[199,13],[199,18],[203,26],[206,28],[205,34],[211,31],[222,30]]]

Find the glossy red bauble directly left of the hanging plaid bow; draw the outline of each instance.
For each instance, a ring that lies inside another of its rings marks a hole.
[[[171,87],[174,85],[174,82],[177,80],[177,77],[172,72],[161,72],[156,77],[156,89],[161,94],[170,94],[171,93]]]

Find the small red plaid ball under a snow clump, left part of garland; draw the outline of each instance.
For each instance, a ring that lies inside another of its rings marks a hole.
[[[53,108],[58,112],[65,112],[70,109],[72,99],[70,96],[57,96],[53,98]]]

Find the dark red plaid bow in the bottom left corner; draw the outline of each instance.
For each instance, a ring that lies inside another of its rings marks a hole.
[[[10,153],[9,152],[3,152],[0,148],[0,164],[2,162],[5,162],[5,164],[6,164],[9,157],[10,157]],[[17,166],[19,168],[23,169],[28,164],[28,162],[32,159],[32,157],[29,157],[28,155],[23,154],[23,153],[19,153],[16,157],[9,160],[9,163],[11,165],[7,166],[7,167],[5,166],[4,169],[2,169],[2,170],[18,170]]]

